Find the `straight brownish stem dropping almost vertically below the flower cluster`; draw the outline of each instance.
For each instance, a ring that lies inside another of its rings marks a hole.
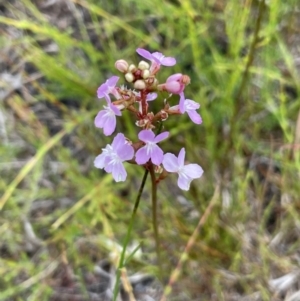
[[[155,238],[155,249],[157,255],[157,263],[160,267],[160,249],[159,249],[159,236],[158,236],[158,224],[157,224],[157,183],[154,173],[154,166],[151,163],[149,166],[151,184],[152,184],[152,223]]]

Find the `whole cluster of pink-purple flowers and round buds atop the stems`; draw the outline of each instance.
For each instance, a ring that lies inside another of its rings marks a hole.
[[[122,115],[123,110],[129,110],[135,117],[135,124],[141,128],[138,140],[131,142],[122,133],[118,133],[112,144],[102,149],[102,153],[96,157],[94,165],[111,173],[116,182],[125,181],[127,177],[123,163],[125,161],[143,165],[155,165],[159,173],[157,182],[162,180],[168,173],[178,174],[178,186],[188,190],[193,179],[200,178],[203,170],[198,164],[184,164],[185,149],[182,148],[178,157],[166,153],[158,143],[169,136],[169,132],[155,133],[153,130],[169,118],[171,115],[187,113],[192,122],[201,124],[202,119],[196,111],[200,105],[184,96],[184,89],[190,83],[187,75],[176,73],[167,78],[165,83],[159,84],[156,78],[161,66],[174,66],[176,60],[165,57],[160,52],[150,53],[145,49],[138,48],[137,53],[150,61],[140,61],[136,66],[125,60],[118,60],[115,67],[121,73],[133,89],[125,86],[117,86],[118,76],[112,76],[97,90],[99,99],[104,98],[106,104],[103,106],[96,118],[95,126],[103,129],[104,135],[110,136],[116,129],[117,116]],[[165,99],[160,111],[154,113],[149,110],[149,102],[157,98],[156,92],[166,91],[169,96],[179,96],[177,105],[170,106]],[[111,99],[113,97],[113,100]],[[162,166],[161,166],[162,165]]]

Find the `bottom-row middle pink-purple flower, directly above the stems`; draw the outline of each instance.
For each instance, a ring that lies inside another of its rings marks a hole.
[[[155,165],[161,164],[164,153],[156,144],[166,139],[169,136],[169,132],[160,133],[155,137],[155,134],[151,130],[142,130],[138,136],[141,141],[145,142],[145,146],[136,152],[136,163],[143,165],[151,159]]]

